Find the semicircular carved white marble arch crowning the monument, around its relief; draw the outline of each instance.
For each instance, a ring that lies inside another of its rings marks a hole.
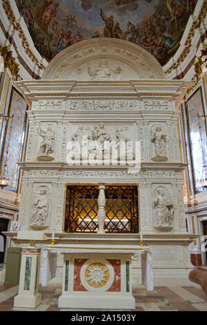
[[[129,41],[114,38],[87,39],[69,46],[57,54],[43,73],[45,80],[84,80],[83,75],[77,73],[77,68],[86,62],[100,62],[100,60],[113,60],[117,66],[124,68],[123,79],[166,79],[159,62],[147,50],[132,44]],[[128,66],[128,68],[127,68]],[[124,77],[124,73],[129,77]],[[73,71],[76,71],[75,75]],[[87,71],[85,68],[84,71]],[[136,77],[135,77],[136,76]],[[90,77],[86,76],[86,80]]]

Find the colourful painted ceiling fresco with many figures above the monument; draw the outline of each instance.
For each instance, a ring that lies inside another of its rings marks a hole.
[[[34,46],[48,61],[83,39],[115,37],[161,65],[179,47],[197,0],[16,0]]]

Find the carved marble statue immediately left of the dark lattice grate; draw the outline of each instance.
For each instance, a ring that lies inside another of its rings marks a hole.
[[[39,194],[34,201],[31,226],[33,228],[46,228],[46,219],[48,217],[48,195],[45,186],[41,186]]]

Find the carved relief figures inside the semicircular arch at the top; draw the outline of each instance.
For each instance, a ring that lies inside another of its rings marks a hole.
[[[88,65],[90,80],[121,80],[122,68],[109,68],[108,62],[103,59],[97,68]]]

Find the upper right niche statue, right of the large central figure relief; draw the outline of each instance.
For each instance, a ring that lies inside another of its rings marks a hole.
[[[151,141],[155,143],[155,156],[152,157],[154,161],[167,161],[165,156],[166,149],[166,135],[161,131],[161,127],[156,127],[155,132],[152,134]]]

